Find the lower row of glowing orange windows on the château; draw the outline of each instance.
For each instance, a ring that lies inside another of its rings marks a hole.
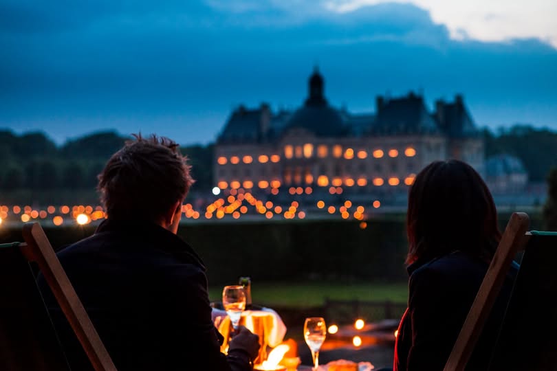
[[[411,186],[414,183],[415,178],[416,178],[415,174],[408,175],[408,177],[404,178],[404,184],[406,184],[406,186]],[[313,181],[314,181],[313,175],[310,174],[305,175],[305,182],[307,184],[311,184],[313,183]],[[398,177],[390,177],[386,179],[386,182],[389,184],[389,186],[398,186],[400,185],[400,181],[401,179]],[[296,183],[300,183],[300,182],[296,181]],[[356,185],[360,187],[365,187],[368,184],[368,179],[365,177],[360,177],[358,179],[345,178],[343,180],[340,177],[335,177],[331,179],[330,183],[331,186],[333,187],[340,187],[342,186],[342,183],[344,183],[344,185],[347,187],[353,187]],[[373,186],[380,187],[385,184],[385,179],[381,177],[376,177],[371,179],[371,183],[373,184]],[[242,183],[240,183],[240,181],[231,181],[230,184],[228,184],[227,181],[219,181],[219,183],[217,183],[217,187],[213,188],[213,193],[219,194],[219,190],[226,190],[228,186],[230,186],[230,188],[232,188],[233,190],[237,190],[239,188],[245,188],[247,190],[251,190],[254,188],[255,185],[254,182],[250,180],[243,181]],[[263,190],[269,188],[270,186],[272,194],[279,194],[279,187],[281,186],[281,181],[274,180],[269,182],[269,181],[262,180],[257,183],[257,186]],[[319,177],[317,177],[317,186],[319,187],[329,186],[329,177],[327,177],[327,175],[320,175]],[[302,187],[290,187],[289,192],[290,194],[295,194],[295,193],[302,194],[304,192],[304,189]],[[312,188],[311,187],[305,188],[305,193],[311,194]]]

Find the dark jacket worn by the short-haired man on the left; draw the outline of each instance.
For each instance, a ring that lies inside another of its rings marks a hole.
[[[119,371],[250,370],[243,351],[220,352],[205,267],[172,232],[107,220],[58,258]],[[38,283],[70,367],[92,370],[42,276]]]

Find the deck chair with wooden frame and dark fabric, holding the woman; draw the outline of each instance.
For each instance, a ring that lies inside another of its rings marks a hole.
[[[466,367],[518,251],[521,267],[489,370],[557,370],[557,233],[527,232],[528,224],[527,214],[512,214],[445,371]]]

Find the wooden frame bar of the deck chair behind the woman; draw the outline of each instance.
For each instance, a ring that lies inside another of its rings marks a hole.
[[[529,218],[527,214],[523,212],[512,214],[455,346],[452,348],[444,371],[462,371],[466,367],[497,295],[501,291],[501,286],[503,286],[512,260],[516,253],[522,251],[528,243],[531,236],[527,232],[528,227]]]

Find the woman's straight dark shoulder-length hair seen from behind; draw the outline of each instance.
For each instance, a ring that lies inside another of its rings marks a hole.
[[[472,166],[435,161],[408,194],[408,264],[463,251],[489,261],[501,239],[488,186]]]

